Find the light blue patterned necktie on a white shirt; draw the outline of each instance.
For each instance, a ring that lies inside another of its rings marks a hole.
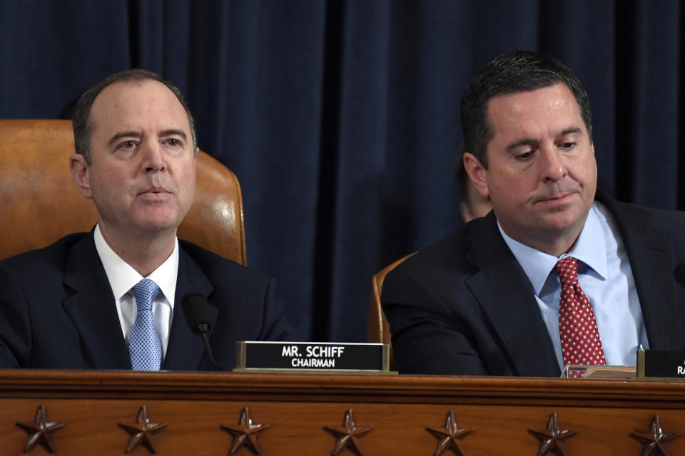
[[[159,294],[159,286],[143,279],[133,286],[138,314],[128,336],[128,353],[133,371],[159,371],[162,363],[162,344],[159,342],[152,316],[152,301]]]

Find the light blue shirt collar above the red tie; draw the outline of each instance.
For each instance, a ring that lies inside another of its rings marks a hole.
[[[528,247],[507,236],[499,225],[499,220],[497,221],[497,228],[499,228],[504,242],[507,243],[507,246],[509,246],[514,257],[519,261],[523,271],[528,276],[535,294],[539,296],[544,282],[547,280],[552,269],[554,269],[554,265],[557,264],[559,259],[565,257],[574,257],[582,261],[602,276],[602,279],[607,277],[607,244],[604,242],[604,230],[602,229],[599,217],[602,217],[602,215],[599,213],[599,209],[597,209],[597,202],[594,202],[587,214],[587,219],[578,239],[573,244],[571,250],[559,258]]]

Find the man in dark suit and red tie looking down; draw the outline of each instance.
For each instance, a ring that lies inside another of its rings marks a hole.
[[[493,212],[385,279],[400,373],[559,376],[685,348],[685,215],[596,195],[589,100],[566,66],[494,58],[465,90],[462,129]]]

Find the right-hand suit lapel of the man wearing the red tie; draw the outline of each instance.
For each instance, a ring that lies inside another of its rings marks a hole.
[[[649,222],[640,207],[600,197],[619,225],[640,300],[649,348],[685,348],[683,316],[677,305],[682,294],[673,271],[677,259],[671,235]]]

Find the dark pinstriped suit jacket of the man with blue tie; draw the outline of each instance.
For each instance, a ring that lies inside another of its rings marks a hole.
[[[235,367],[235,342],[293,340],[275,304],[275,284],[255,271],[179,241],[178,280],[166,370],[213,370],[181,297],[199,291],[213,306],[210,346]],[[93,234],[0,261],[0,367],[130,369],[128,347]]]

